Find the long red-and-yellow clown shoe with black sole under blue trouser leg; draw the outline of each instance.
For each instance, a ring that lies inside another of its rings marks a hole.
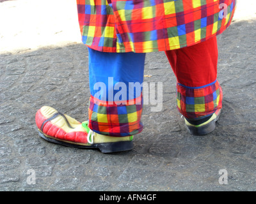
[[[36,112],[39,135],[48,142],[83,149],[99,149],[102,153],[132,149],[133,136],[106,136],[88,128],[88,121],[78,122],[54,108],[43,106]]]

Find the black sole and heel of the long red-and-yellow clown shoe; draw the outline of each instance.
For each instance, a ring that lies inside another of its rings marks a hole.
[[[79,149],[99,149],[102,153],[113,153],[113,152],[122,152],[132,150],[133,144],[132,141],[124,141],[124,142],[108,142],[108,143],[95,143],[95,144],[82,144],[82,143],[75,143],[75,142],[67,142],[65,140],[60,140],[54,138],[49,135],[45,135],[38,129],[38,134],[47,142],[56,143],[58,145],[63,145],[66,147],[74,147]]]

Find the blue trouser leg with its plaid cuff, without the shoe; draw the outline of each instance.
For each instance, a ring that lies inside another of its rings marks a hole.
[[[89,48],[90,129],[110,136],[142,131],[144,64],[145,54],[106,53]]]

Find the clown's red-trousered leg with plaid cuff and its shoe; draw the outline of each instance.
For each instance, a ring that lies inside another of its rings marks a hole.
[[[191,133],[205,135],[213,131],[222,107],[216,37],[191,47],[166,51],[166,56],[177,77],[177,108]]]

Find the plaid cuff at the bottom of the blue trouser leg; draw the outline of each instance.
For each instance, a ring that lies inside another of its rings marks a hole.
[[[91,95],[88,127],[101,135],[130,136],[142,131],[142,95],[136,99],[115,102],[101,101]]]

